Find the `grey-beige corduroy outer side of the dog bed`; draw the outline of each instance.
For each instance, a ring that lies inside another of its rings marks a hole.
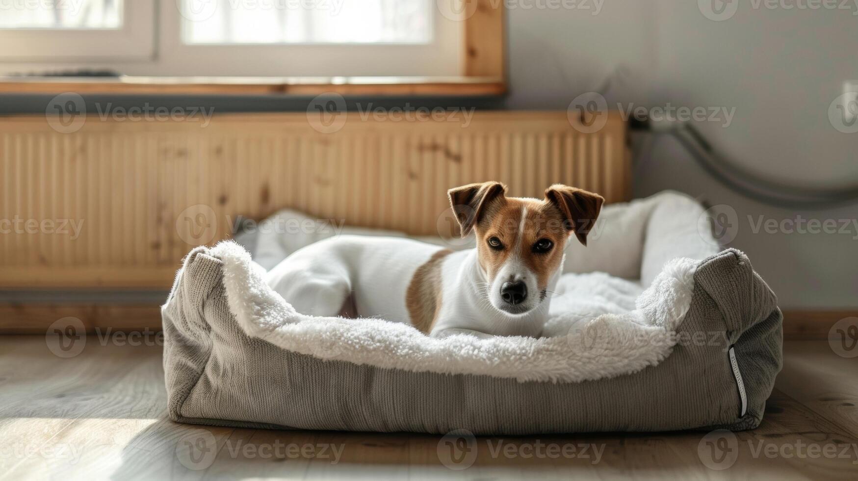
[[[636,374],[567,384],[413,373],[281,350],[237,325],[221,260],[204,247],[189,255],[162,307],[169,415],[183,423],[477,435],[752,429],[781,368],[776,297],[734,249],[699,265],[667,359]],[[746,388],[744,416],[731,344]]]

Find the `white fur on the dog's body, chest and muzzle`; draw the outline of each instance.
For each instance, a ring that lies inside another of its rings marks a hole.
[[[409,239],[341,235],[299,249],[269,271],[266,281],[301,314],[332,317],[341,314],[351,298],[362,318],[410,323],[408,285],[418,268],[442,250]],[[550,296],[541,300],[529,295],[529,310],[523,314],[501,307],[500,284],[505,279],[523,280],[529,292],[539,291],[535,275],[517,255],[510,256],[491,284],[476,249],[450,253],[440,262],[443,301],[432,336],[540,336]],[[557,283],[562,267],[561,262],[548,289]]]

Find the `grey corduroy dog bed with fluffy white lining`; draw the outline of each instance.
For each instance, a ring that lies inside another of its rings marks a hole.
[[[704,214],[674,192],[607,206],[589,247],[566,252],[542,338],[298,314],[263,275],[317,235],[245,236],[262,265],[232,241],[196,248],[162,307],[169,415],[439,434],[752,429],[781,368],[782,315],[745,254],[717,252]]]

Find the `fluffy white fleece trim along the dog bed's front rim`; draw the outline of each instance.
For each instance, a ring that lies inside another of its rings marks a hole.
[[[637,297],[634,310],[583,322],[569,315],[565,335],[438,339],[402,323],[299,314],[263,281],[263,268],[243,247],[225,241],[211,254],[224,263],[230,310],[250,337],[300,354],[378,368],[553,382],[611,378],[662,362],[691,304],[699,264],[694,259],[668,262]],[[565,314],[550,322],[558,332]]]

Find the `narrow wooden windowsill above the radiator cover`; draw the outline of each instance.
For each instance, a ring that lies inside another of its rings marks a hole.
[[[506,93],[501,78],[453,77],[14,77],[0,94],[444,95]]]

